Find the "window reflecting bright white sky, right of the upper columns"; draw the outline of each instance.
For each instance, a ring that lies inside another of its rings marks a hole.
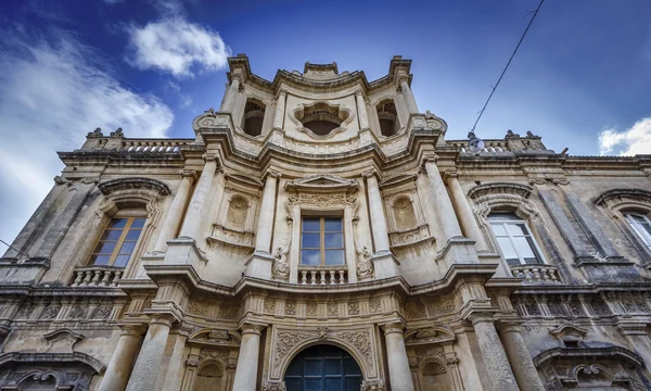
[[[526,222],[512,213],[492,213],[488,222],[509,266],[542,264],[542,253]]]

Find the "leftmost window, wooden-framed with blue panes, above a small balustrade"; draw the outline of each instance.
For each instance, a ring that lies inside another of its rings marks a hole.
[[[144,217],[112,218],[93,250],[89,264],[126,267],[144,222]]]

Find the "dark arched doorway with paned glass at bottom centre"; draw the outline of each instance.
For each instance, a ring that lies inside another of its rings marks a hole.
[[[359,391],[361,369],[348,352],[333,345],[307,348],[290,363],[288,391]]]

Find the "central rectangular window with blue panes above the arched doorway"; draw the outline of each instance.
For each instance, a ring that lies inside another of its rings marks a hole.
[[[301,264],[343,265],[344,223],[341,217],[301,219]]]

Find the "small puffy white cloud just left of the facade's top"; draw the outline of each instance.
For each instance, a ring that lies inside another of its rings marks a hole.
[[[129,28],[131,53],[127,61],[140,70],[158,70],[175,77],[218,71],[231,54],[217,31],[181,16],[169,16],[143,27]]]

